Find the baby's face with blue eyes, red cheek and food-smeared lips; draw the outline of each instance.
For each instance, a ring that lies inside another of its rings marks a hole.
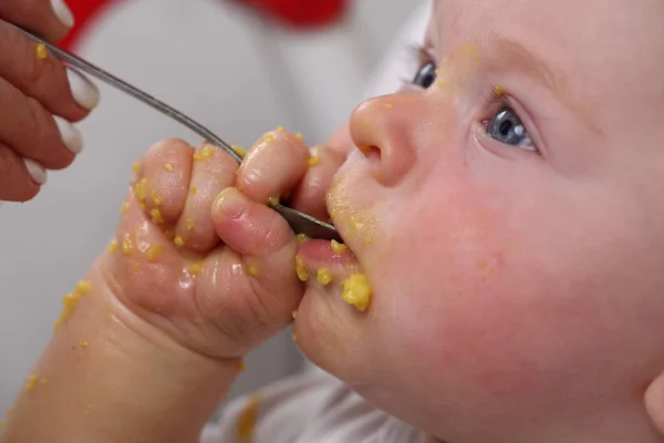
[[[664,369],[664,2],[438,0],[425,50],[418,86],[352,114],[363,152],[329,195],[372,305],[312,286],[304,351],[453,443],[645,430]]]

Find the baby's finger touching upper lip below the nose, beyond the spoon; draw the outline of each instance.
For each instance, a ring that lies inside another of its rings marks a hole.
[[[334,175],[345,161],[345,155],[328,146],[311,148],[309,169],[290,197],[293,208],[321,220],[326,220],[325,194],[332,186]]]

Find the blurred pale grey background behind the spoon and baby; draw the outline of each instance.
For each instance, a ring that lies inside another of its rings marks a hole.
[[[418,7],[424,12],[425,2],[349,0],[342,17],[303,29],[237,0],[106,1],[93,16],[90,8],[73,8],[90,19],[68,43],[229,143],[249,146],[283,125],[313,145],[364,96],[391,92],[400,75],[412,76],[415,59],[407,44],[415,42],[401,38],[400,29]],[[392,59],[381,64],[391,45]],[[4,204],[0,212],[2,409],[50,339],[62,296],[108,243],[132,164],[166,137],[201,142],[142,103],[100,87],[102,104],[79,126],[85,151],[76,163],[51,174],[34,202]],[[231,395],[302,365],[286,331],[247,359]]]

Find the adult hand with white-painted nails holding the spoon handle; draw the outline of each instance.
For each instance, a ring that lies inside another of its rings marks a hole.
[[[100,100],[89,80],[11,23],[56,42],[73,21],[63,0],[0,1],[0,200],[33,198],[46,169],[74,161],[83,143],[71,122]]]

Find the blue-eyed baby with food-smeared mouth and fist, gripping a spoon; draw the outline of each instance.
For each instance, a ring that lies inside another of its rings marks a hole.
[[[662,0],[438,0],[412,84],[326,146],[152,147],[7,441],[663,442],[663,23]],[[291,322],[340,381],[200,436]]]

